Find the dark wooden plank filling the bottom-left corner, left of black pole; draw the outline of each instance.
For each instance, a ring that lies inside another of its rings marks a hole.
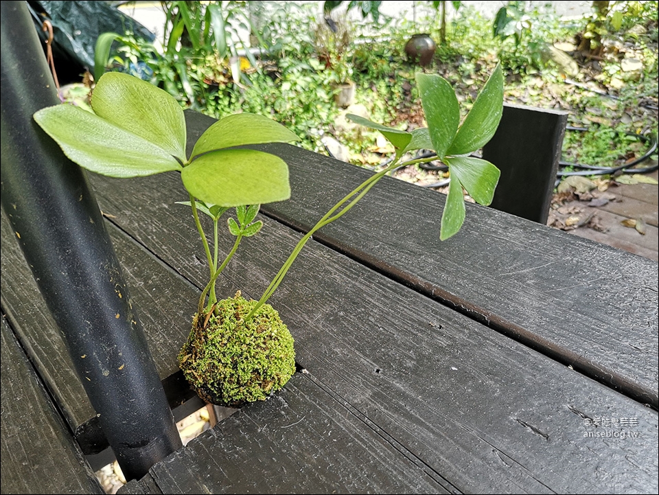
[[[104,493],[3,316],[2,493]]]

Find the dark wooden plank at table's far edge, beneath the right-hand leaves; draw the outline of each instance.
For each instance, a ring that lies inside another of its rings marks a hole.
[[[213,119],[186,116],[192,145]],[[371,175],[293,146],[261,148],[286,158],[292,187],[262,211],[300,231]],[[656,262],[474,204],[439,242],[446,196],[419,189],[385,177],[314,239],[659,407]]]

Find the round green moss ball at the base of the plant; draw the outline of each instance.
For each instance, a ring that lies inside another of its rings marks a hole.
[[[207,402],[240,407],[265,400],[295,372],[293,338],[272,306],[243,323],[255,304],[238,291],[219,301],[207,322],[205,314],[194,316],[178,365]]]

